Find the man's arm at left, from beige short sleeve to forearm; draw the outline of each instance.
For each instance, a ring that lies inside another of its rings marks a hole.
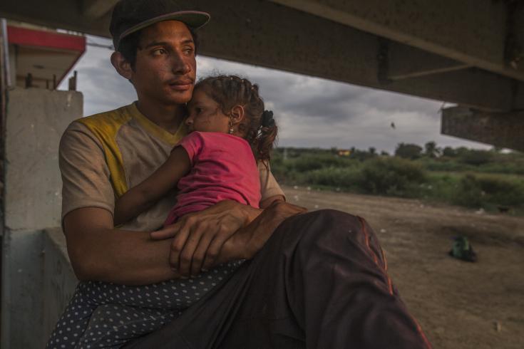
[[[115,194],[103,146],[82,123],[72,123],[60,144],[63,231],[76,276],[84,281],[147,284],[175,278],[170,241],[148,232],[114,229]]]

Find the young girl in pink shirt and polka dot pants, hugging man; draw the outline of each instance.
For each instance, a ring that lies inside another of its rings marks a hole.
[[[153,175],[115,203],[115,225],[127,222],[178,185],[177,204],[165,225],[222,200],[260,202],[257,161],[267,163],[277,135],[258,86],[237,76],[195,85],[185,124],[191,131]],[[240,266],[234,261],[187,280],[148,286],[79,283],[46,348],[120,348],[160,328]]]

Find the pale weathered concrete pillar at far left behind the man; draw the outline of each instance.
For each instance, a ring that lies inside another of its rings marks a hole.
[[[58,143],[82,116],[74,91],[8,91],[4,139],[1,348],[42,348],[43,229],[61,226]]]

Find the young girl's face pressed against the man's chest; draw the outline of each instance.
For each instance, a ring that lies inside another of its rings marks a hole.
[[[230,117],[222,113],[220,105],[212,100],[202,88],[198,88],[187,103],[189,116],[185,125],[192,131],[223,132],[230,129]]]

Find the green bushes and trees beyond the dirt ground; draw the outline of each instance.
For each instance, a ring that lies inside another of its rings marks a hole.
[[[524,214],[524,154],[443,150],[401,143],[394,156],[374,148],[349,156],[339,150],[278,148],[272,172],[284,184],[361,194],[426,199],[488,212]]]

